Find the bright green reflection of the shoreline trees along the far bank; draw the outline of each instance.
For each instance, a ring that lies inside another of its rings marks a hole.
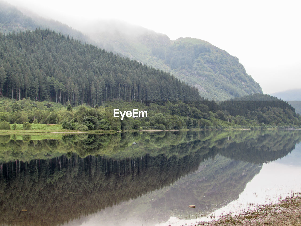
[[[0,135],[0,162],[51,159],[67,152],[77,153],[80,157],[101,155],[119,160],[146,154],[183,157],[199,149],[206,151],[208,147],[215,147],[212,151],[222,152],[229,158],[258,163],[288,153],[300,137],[299,130],[79,134],[63,136],[61,140],[30,140],[26,135],[22,140],[16,140],[14,136]]]

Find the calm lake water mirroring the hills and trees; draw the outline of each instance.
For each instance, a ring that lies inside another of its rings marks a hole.
[[[301,192],[300,141],[301,130],[0,135],[0,221],[165,226],[243,212]]]

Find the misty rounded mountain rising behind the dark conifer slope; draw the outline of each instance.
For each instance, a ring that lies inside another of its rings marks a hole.
[[[238,58],[195,38],[168,36],[119,21],[98,21],[81,29],[98,46],[163,69],[196,86],[208,99],[262,93]]]

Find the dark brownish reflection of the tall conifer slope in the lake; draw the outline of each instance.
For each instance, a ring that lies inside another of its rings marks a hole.
[[[3,164],[1,222],[62,224],[168,186],[197,170],[204,157],[207,156],[196,154],[178,159],[145,155],[113,161],[63,155]],[[21,209],[28,211],[20,212]]]

